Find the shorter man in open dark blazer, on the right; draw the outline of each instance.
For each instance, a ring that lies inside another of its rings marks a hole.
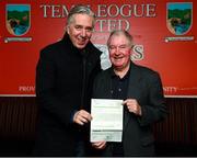
[[[121,143],[92,143],[102,156],[154,156],[151,126],[166,116],[160,75],[130,60],[132,45],[127,31],[112,32],[107,42],[112,67],[94,82],[93,98],[124,100]]]

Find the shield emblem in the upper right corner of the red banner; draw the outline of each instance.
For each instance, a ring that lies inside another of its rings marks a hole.
[[[186,34],[193,23],[192,2],[170,2],[166,4],[166,26],[174,35]]]

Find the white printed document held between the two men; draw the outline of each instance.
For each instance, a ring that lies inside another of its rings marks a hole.
[[[91,142],[121,142],[123,100],[91,100]]]

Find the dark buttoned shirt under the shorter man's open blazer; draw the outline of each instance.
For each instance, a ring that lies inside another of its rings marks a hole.
[[[112,72],[112,98],[113,99],[127,99],[127,90],[128,90],[128,81],[129,81],[129,71],[120,78],[119,76]],[[125,108],[124,108],[125,109]],[[125,111],[125,110],[124,110]],[[123,142],[121,143],[112,143],[113,145],[113,156],[124,156]]]

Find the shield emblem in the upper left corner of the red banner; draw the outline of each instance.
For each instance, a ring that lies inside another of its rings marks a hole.
[[[7,4],[7,30],[10,34],[22,36],[30,30],[31,5],[30,4]]]

